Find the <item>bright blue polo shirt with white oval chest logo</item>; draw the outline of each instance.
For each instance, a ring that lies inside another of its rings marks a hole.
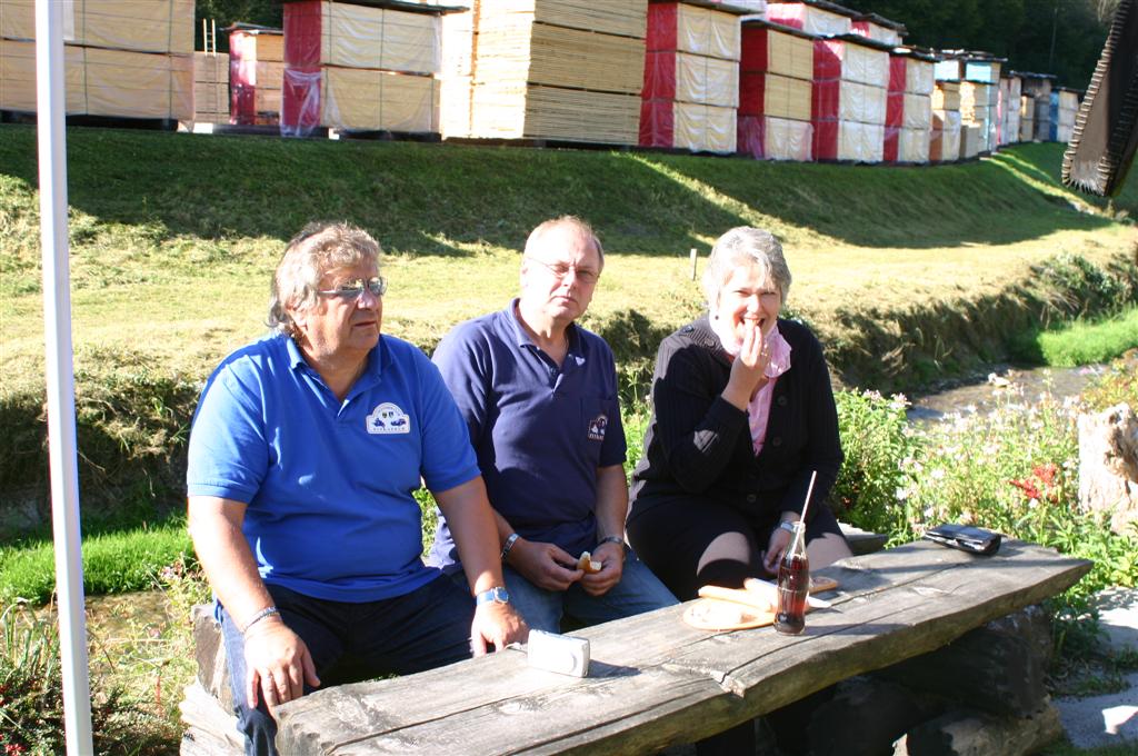
[[[478,475],[438,369],[381,336],[343,402],[291,338],[230,355],[190,434],[187,491],[248,504],[262,578],[305,595],[374,601],[438,576],[422,561],[420,476],[446,491]]]

